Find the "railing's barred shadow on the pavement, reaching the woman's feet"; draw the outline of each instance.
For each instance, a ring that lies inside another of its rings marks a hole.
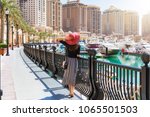
[[[34,62],[32,62],[23,53],[23,51],[20,52],[20,55],[21,55],[24,63],[31,70],[30,72],[32,72],[36,76],[35,80],[39,80],[45,87],[45,89],[43,89],[43,91],[50,93],[49,97],[41,98],[39,100],[61,100],[61,99],[68,100],[69,99],[68,95],[66,95],[66,94],[69,94],[69,91],[67,88],[64,88],[60,82],[51,78],[50,74],[46,73],[45,71],[43,71],[42,68],[37,66]],[[78,95],[74,96],[72,99],[82,100]]]

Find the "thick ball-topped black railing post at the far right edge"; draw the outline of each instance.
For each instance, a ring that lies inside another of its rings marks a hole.
[[[142,66],[142,99],[150,100],[150,67],[148,63],[150,62],[150,55],[144,53],[142,55],[142,61],[144,66]]]

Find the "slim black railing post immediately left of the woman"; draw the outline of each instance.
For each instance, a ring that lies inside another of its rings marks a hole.
[[[52,72],[52,78],[56,78],[55,74],[57,72],[57,69],[56,69],[56,65],[55,65],[55,53],[56,53],[56,47],[55,46],[52,46],[52,50],[53,50],[53,53],[52,53],[52,65],[53,65],[53,72]]]

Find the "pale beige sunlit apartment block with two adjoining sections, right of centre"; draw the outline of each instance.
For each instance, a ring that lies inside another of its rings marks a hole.
[[[103,12],[102,16],[103,34],[111,35],[138,35],[139,16],[134,11],[123,11],[114,6]]]

